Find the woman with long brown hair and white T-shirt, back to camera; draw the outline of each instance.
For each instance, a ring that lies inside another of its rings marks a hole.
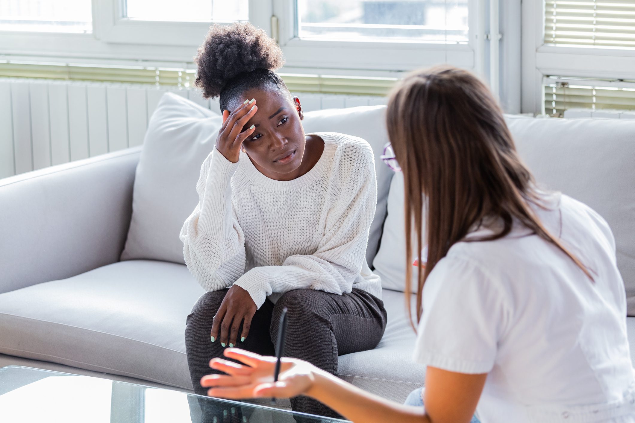
[[[245,365],[211,360],[229,375],[203,377],[208,394],[304,394],[354,422],[469,422],[477,410],[483,423],[635,422],[624,283],[604,219],[538,188],[469,72],[411,73],[391,93],[387,126],[385,159],[403,171],[406,234],[418,240],[406,260],[427,250],[414,355],[426,387],[410,400],[425,410],[300,360],[284,360],[274,383],[274,358],[233,348],[225,356]]]

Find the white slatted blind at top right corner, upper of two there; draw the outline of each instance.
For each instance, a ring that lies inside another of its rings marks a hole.
[[[545,44],[635,48],[635,1],[545,0]]]

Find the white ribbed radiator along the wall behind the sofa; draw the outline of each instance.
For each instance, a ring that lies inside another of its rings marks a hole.
[[[0,78],[0,178],[140,145],[171,91],[218,110],[197,89]],[[296,93],[309,112],[384,104],[384,97]]]

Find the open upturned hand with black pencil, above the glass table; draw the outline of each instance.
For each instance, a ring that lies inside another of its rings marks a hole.
[[[213,358],[210,367],[227,375],[206,375],[201,386],[211,387],[209,396],[240,400],[243,398],[290,398],[307,393],[314,384],[315,372],[319,369],[311,363],[294,358],[282,358],[280,375],[274,383],[276,357],[260,356],[239,348],[227,348],[225,357],[242,361],[246,365],[233,361]]]

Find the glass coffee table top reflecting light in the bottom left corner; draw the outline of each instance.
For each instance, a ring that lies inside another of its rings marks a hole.
[[[336,423],[253,403],[37,368],[0,368],[3,423]]]

